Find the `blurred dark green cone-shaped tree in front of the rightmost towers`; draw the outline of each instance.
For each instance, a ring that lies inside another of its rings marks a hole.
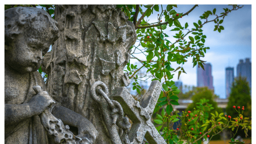
[[[240,112],[242,111],[242,107],[244,106],[243,117],[251,118],[252,115],[252,102],[250,96],[250,86],[245,77],[239,76],[235,79],[232,84],[229,102],[227,104],[227,115],[230,115],[231,118],[237,117],[236,109],[233,106],[240,107]],[[240,128],[241,129],[241,128]],[[237,135],[241,137],[245,137],[243,132],[244,130],[238,130]],[[248,135],[251,135],[251,132],[248,132]]]

